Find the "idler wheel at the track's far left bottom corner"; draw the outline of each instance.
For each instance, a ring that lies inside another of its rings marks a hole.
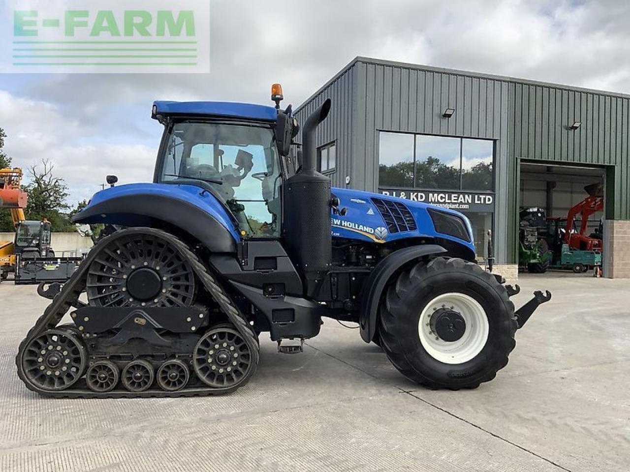
[[[35,388],[60,391],[83,376],[87,357],[81,338],[69,330],[49,329],[26,345],[21,368]]]

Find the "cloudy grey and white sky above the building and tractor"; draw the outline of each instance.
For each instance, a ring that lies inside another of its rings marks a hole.
[[[357,56],[630,94],[629,24],[624,0],[210,0],[209,74],[0,74],[0,127],[75,205],[106,174],[151,181],[156,99],[272,104],[280,82],[295,107]]]

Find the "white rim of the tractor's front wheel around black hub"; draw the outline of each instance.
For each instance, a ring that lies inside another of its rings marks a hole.
[[[448,342],[438,337],[431,328],[431,316],[440,308],[453,310],[466,322],[462,337]],[[463,364],[475,357],[488,341],[488,317],[479,302],[464,293],[444,293],[431,300],[420,313],[418,334],[425,351],[433,359],[445,364]]]

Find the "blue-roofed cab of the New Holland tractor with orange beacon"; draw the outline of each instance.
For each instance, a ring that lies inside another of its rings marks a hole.
[[[205,183],[241,237],[280,235],[283,157],[298,131],[290,107],[156,101],[153,118],[165,126],[154,182]]]

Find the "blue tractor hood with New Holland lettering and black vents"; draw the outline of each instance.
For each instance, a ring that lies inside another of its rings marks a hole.
[[[406,238],[452,240],[474,251],[471,224],[458,211],[378,193],[333,188],[333,237],[384,243]]]

